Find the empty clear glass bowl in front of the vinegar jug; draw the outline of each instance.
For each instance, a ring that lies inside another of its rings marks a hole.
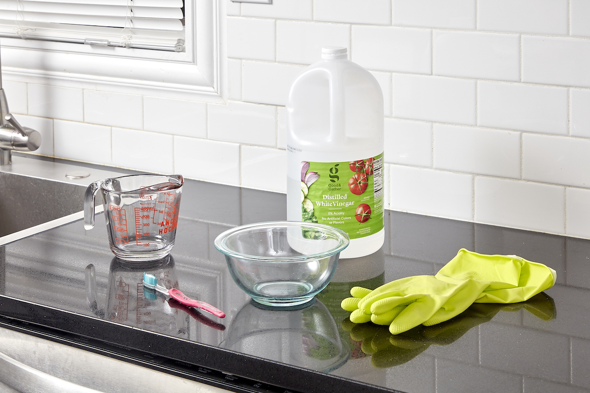
[[[225,231],[215,247],[235,283],[267,306],[307,303],[332,279],[349,237],[318,223],[267,222]]]

